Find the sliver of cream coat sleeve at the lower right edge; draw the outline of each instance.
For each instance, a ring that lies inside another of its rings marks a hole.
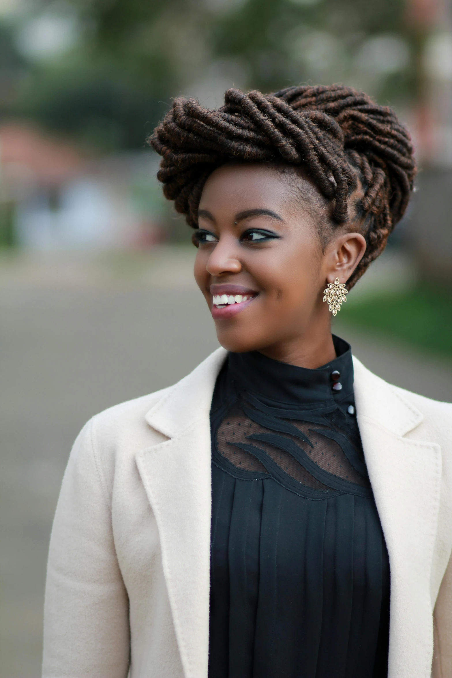
[[[452,676],[452,556],[441,582],[433,614],[432,678]]]

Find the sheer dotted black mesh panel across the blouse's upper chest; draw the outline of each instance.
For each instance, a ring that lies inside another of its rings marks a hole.
[[[337,478],[363,487],[369,486],[367,478],[358,473],[354,466],[350,464],[341,447],[341,445],[345,447],[349,451],[350,456],[350,447],[353,447],[353,445],[350,437],[346,435],[345,426],[340,431],[333,423],[331,423],[330,427],[300,420],[267,416],[258,410],[252,410],[249,404],[246,403],[245,409],[249,412],[250,417],[258,418],[260,422],[263,422],[262,418],[264,418],[266,422],[266,425],[264,425],[264,423],[257,423],[247,416],[243,412],[242,405],[243,403],[238,403],[232,407],[218,426],[216,435],[218,452],[231,464],[234,464],[234,466],[245,471],[268,472],[265,466],[265,459],[260,461],[251,452],[237,447],[237,443],[253,445],[262,450],[265,456],[268,456],[270,460],[276,463],[291,478],[302,483],[302,485],[312,487],[314,490],[329,490],[330,487],[324,474],[321,474],[323,477],[319,479],[312,475],[312,473],[315,473],[315,470],[310,473],[308,470],[310,463],[319,466],[319,469]],[[308,413],[307,416],[309,416]],[[324,416],[329,419],[328,414]],[[335,416],[335,419],[336,423],[337,416]],[[285,427],[285,424],[288,426]],[[300,437],[295,435],[295,430],[293,429],[291,433],[284,430],[281,431],[281,428],[289,428],[290,430],[291,427],[295,427],[297,431],[300,431]],[[327,435],[336,437],[337,440],[322,435],[322,431],[325,431]],[[263,434],[264,437],[268,437],[270,434],[272,440],[254,438]],[[292,453],[279,447],[279,445],[287,447],[288,444],[291,446]],[[295,450],[293,445],[296,445]],[[354,454],[357,455],[356,448],[354,449]],[[300,455],[300,461],[295,458],[297,455]],[[307,461],[305,455],[308,458]]]

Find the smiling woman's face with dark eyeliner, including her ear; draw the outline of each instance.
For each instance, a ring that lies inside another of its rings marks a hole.
[[[302,193],[316,190],[306,179],[297,181],[306,182]],[[318,202],[320,220],[326,212],[321,214],[320,196]],[[220,344],[284,359],[308,335],[326,333],[331,340],[323,290],[335,277],[345,282],[362,256],[356,258],[355,250],[363,250],[360,241],[350,254],[348,242],[356,234],[340,233],[322,252],[315,210],[295,198],[276,167],[249,163],[216,169],[199,203],[194,277]]]

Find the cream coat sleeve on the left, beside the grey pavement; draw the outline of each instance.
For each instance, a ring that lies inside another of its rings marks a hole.
[[[50,538],[43,678],[125,678],[129,669],[128,599],[92,427],[70,454]]]

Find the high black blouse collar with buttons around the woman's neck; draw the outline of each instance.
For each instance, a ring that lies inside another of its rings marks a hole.
[[[335,335],[333,343],[337,357],[316,370],[250,351],[229,353],[228,373],[240,389],[276,403],[300,405],[342,400],[353,391],[352,351],[350,344]]]

